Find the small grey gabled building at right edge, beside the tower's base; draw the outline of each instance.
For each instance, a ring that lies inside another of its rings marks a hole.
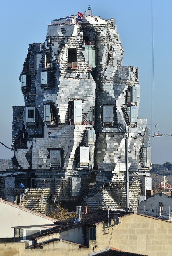
[[[137,213],[171,221],[172,198],[166,193],[160,192],[140,202]]]

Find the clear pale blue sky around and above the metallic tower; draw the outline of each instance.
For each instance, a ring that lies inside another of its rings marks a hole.
[[[172,1],[154,1],[154,121],[172,133]],[[93,15],[114,17],[124,48],[123,65],[139,68],[139,117],[150,124],[150,0],[6,0],[0,5],[0,141],[11,147],[12,106],[24,105],[19,74],[31,43],[44,42],[52,19],[76,15],[92,5]],[[151,131],[155,132],[151,126]],[[13,152],[0,145],[0,158]],[[172,136],[153,139],[153,163],[172,162]]]

